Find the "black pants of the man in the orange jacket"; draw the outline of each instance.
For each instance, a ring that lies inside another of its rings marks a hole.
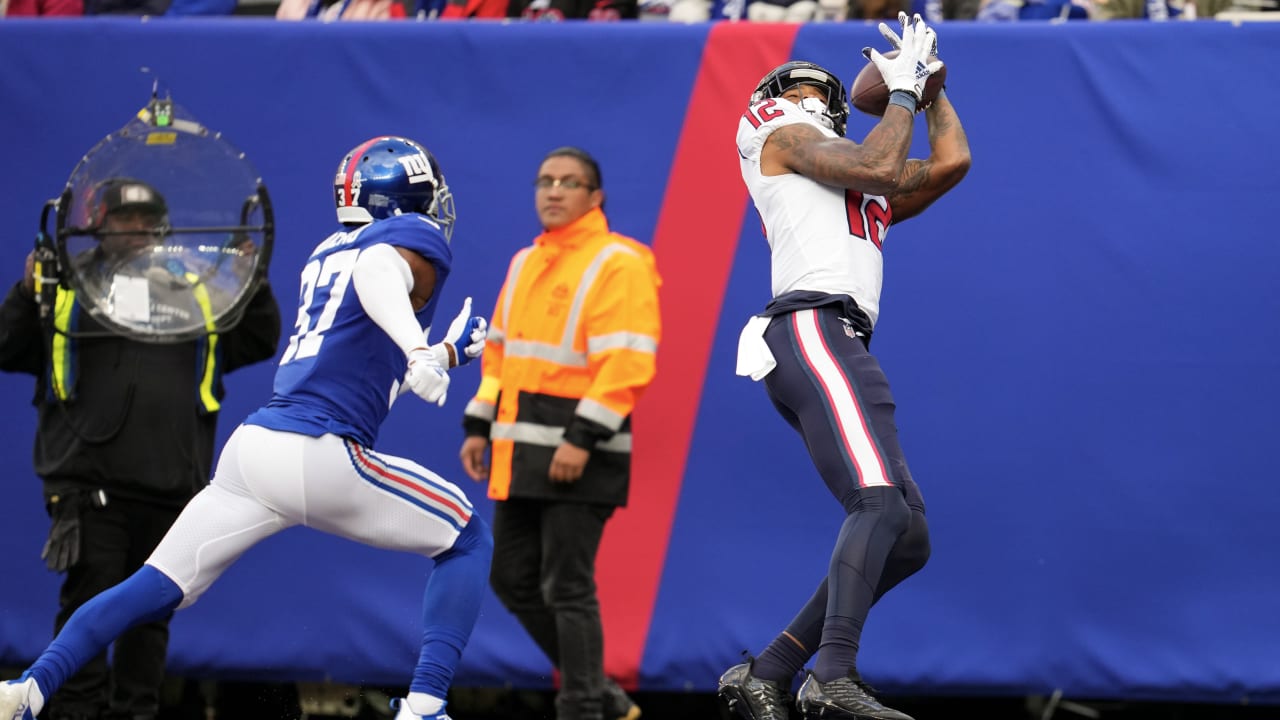
[[[595,555],[613,506],[540,500],[494,505],[490,583],[561,671],[561,720],[599,717],[604,629]]]

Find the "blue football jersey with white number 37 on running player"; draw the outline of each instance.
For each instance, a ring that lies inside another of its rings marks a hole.
[[[385,243],[412,250],[435,266],[435,288],[417,311],[431,324],[452,254],[439,225],[398,215],[338,232],[316,246],[302,269],[298,320],[275,372],[270,402],[244,421],[371,446],[404,379],[404,352],[365,314],[351,284],[360,252]]]

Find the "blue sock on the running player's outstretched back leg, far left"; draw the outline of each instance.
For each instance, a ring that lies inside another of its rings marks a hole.
[[[52,697],[68,678],[97,657],[124,630],[166,618],[182,602],[182,591],[150,565],[102,591],[72,614],[54,642],[27,673],[40,692]]]

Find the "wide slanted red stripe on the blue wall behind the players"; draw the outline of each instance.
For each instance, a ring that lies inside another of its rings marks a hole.
[[[634,418],[631,500],[596,562],[605,669],[635,687],[748,195],[733,133],[755,83],[791,51],[795,24],[717,23],[694,82],[653,249],[662,273],[658,375]]]

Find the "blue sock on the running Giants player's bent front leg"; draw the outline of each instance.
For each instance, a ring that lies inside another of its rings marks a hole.
[[[480,601],[489,589],[493,534],[472,515],[453,547],[435,557],[422,593],[422,651],[410,691],[447,697],[462,648],[480,618]]]

